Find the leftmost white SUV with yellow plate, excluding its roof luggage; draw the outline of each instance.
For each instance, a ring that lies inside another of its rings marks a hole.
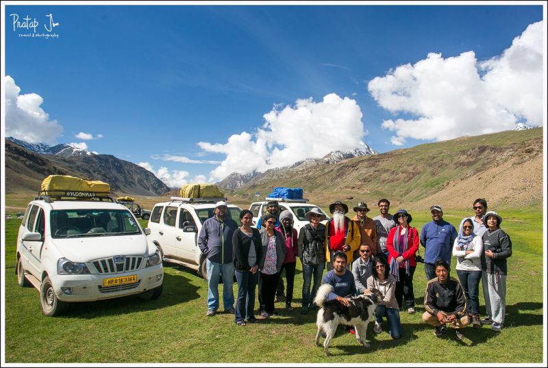
[[[135,293],[158,298],[164,268],[147,233],[126,207],[110,198],[38,196],[19,227],[18,284],[40,291],[47,316],[62,313],[67,302]]]

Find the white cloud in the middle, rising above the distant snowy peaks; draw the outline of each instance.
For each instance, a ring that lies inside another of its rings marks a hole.
[[[364,135],[362,111],[351,98],[327,94],[323,101],[297,100],[295,106],[275,105],[264,114],[256,133],[231,135],[225,144],[199,142],[203,150],[223,153],[226,158],[210,175],[221,180],[232,172],[288,166],[309,157],[322,157],[333,150],[353,149]]]

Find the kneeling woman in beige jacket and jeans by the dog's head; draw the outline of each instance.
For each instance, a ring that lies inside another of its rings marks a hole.
[[[399,308],[396,302],[395,289],[396,279],[390,274],[386,259],[382,256],[373,258],[372,275],[367,279],[365,293],[370,289],[377,289],[383,295],[375,308],[375,327],[373,331],[378,334],[382,332],[382,317],[386,316],[388,333],[390,337],[397,340],[401,337],[401,322],[399,321]]]

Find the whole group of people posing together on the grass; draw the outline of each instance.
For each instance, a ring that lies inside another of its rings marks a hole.
[[[283,296],[286,310],[292,311],[293,287],[297,258],[303,271],[301,314],[317,310],[312,300],[322,283],[334,289],[328,299],[349,303],[349,298],[381,291],[383,299],[375,310],[376,333],[382,332],[386,317],[388,333],[401,337],[399,312],[403,308],[415,313],[413,276],[417,261],[424,263],[428,283],[425,291],[426,324],[434,334],[447,332],[447,325],[462,339],[461,328],[473,324],[491,324],[503,328],[506,306],[506,259],[512,254],[510,237],[500,228],[502,218],[487,211],[483,198],[474,201],[475,215],[464,218],[459,231],[443,220],[439,205],[430,207],[432,221],[421,229],[410,226],[412,215],[400,209],[390,215],[390,201],[378,201],[379,215],[369,218],[365,202],[353,208],[340,201],[329,205],[329,218],[312,208],[305,217],[308,224],[299,233],[293,228],[293,215],[278,213],[278,204],[267,204],[268,212],[253,227],[253,213],[240,213],[240,226],[227,218],[227,205],[217,202],[214,217],[203,223],[198,245],[206,256],[208,272],[208,311],[215,315],[219,308],[219,277],[223,278],[223,303],[227,313],[234,313],[239,326],[257,321],[255,293],[258,285],[259,313],[262,318],[276,315],[275,298]],[[424,258],[417,257],[419,243]],[[458,280],[449,276],[451,257],[456,257]],[[327,268],[324,275],[323,270]],[[286,276],[286,295],[282,270]],[[232,278],[236,275],[238,297],[234,308]],[[487,316],[479,319],[479,280],[482,280]],[[352,329],[349,329],[353,332]]]

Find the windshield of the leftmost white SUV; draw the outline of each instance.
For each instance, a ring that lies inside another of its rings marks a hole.
[[[134,217],[123,209],[68,209],[51,211],[51,237],[93,237],[138,234]]]

